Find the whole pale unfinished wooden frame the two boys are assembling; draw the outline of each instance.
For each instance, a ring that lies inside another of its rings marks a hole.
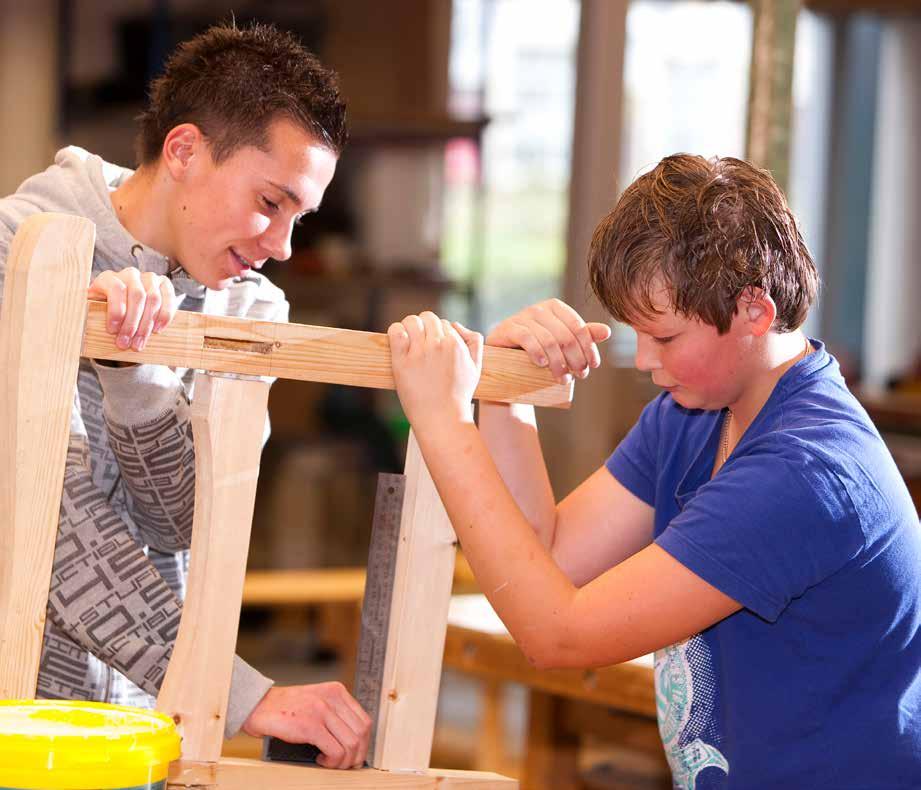
[[[104,305],[85,300],[94,238],[86,219],[40,214],[22,224],[7,261],[0,314],[6,372],[0,389],[6,432],[0,448],[4,698],[35,694],[81,337],[83,354],[95,358],[393,387],[386,336],[373,333],[180,313],[144,352],[121,351],[104,331]],[[495,774],[428,769],[454,535],[413,438],[374,768],[335,772],[220,759],[267,389],[251,378],[196,378],[192,568],[174,660],[158,699],[158,708],[174,717],[183,734],[170,786],[517,786]],[[489,349],[477,390],[478,397],[552,406],[568,405],[571,394],[571,385],[556,384],[523,352],[507,349]]]

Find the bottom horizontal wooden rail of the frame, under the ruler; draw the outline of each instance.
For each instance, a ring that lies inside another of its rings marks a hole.
[[[168,787],[217,790],[516,790],[518,782],[492,773],[430,770],[392,773],[363,768],[334,771],[310,765],[224,758],[211,765],[175,763]]]

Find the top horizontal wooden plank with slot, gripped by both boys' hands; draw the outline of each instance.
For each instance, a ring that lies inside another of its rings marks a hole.
[[[252,376],[394,389],[387,335],[307,324],[251,321],[180,310],[143,351],[123,351],[105,328],[105,302],[88,301],[83,356]],[[519,349],[485,350],[474,397],[568,408],[573,385],[558,384]]]

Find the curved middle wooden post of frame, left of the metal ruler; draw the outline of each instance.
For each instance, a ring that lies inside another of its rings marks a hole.
[[[199,373],[192,400],[195,518],[188,592],[157,709],[185,759],[220,757],[269,385]]]

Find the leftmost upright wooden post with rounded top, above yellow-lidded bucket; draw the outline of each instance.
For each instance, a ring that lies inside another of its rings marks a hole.
[[[0,698],[35,695],[96,230],[20,226],[0,315]]]

